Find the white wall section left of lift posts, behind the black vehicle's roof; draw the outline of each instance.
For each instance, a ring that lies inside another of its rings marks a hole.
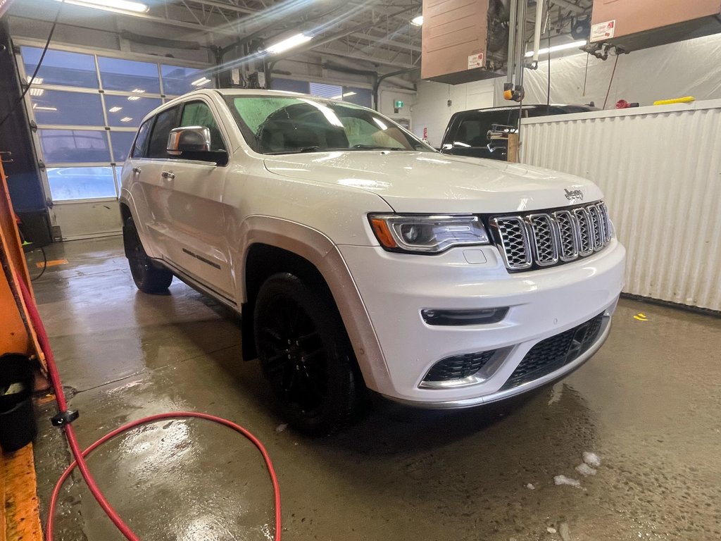
[[[428,142],[441,146],[443,132],[451,115],[466,109],[493,107],[493,79],[466,84],[419,81],[417,98],[411,109],[412,129],[419,137],[427,133]],[[451,105],[448,105],[451,100]]]

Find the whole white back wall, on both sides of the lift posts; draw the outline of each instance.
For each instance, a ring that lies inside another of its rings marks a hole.
[[[606,109],[613,109],[621,99],[651,105],[655,100],[689,95],[696,100],[721,98],[720,59],[721,34],[619,56]],[[565,53],[562,58],[552,58],[551,102],[594,102],[596,107],[603,107],[615,61],[615,56],[602,61],[585,53],[571,56]],[[412,109],[414,133],[422,137],[423,128],[428,128],[428,141],[439,146],[448,119],[456,111],[513,105],[503,99],[504,82],[505,77],[456,85],[419,81]],[[527,69],[523,81],[524,101],[545,103],[547,83],[548,62],[539,63],[537,71]],[[451,100],[450,107],[448,100]]]

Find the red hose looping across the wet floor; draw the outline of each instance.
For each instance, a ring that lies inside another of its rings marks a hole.
[[[65,393],[63,392],[63,384],[60,380],[60,374],[58,374],[58,366],[55,363],[55,356],[53,356],[53,350],[50,348],[50,340],[48,340],[48,333],[45,332],[45,325],[43,325],[43,320],[40,318],[40,313],[37,312],[37,306],[35,305],[35,301],[32,299],[30,292],[27,290],[27,286],[22,281],[22,279],[19,279],[18,283],[20,285],[20,290],[22,291],[22,298],[25,300],[27,312],[30,315],[30,320],[32,321],[32,326],[35,327],[35,333],[37,333],[37,340],[40,343],[40,348],[43,350],[43,353],[45,353],[45,361],[48,364],[48,374],[50,375],[50,382],[53,384],[53,388],[55,389],[56,401],[58,402],[58,410],[60,410],[61,413],[66,413],[68,410],[68,404],[65,398]],[[112,439],[115,436],[118,436],[118,434],[122,434],[123,432],[130,430],[131,428],[135,428],[136,426],[140,426],[146,423],[154,423],[162,419],[189,417],[206,419],[207,421],[213,421],[214,423],[220,423],[221,425],[233,428],[235,431],[240,432],[241,434],[243,434],[243,436],[252,441],[255,447],[258,448],[260,454],[262,454],[262,457],[265,460],[265,465],[267,466],[270,480],[273,483],[273,495],[275,498],[274,539],[275,541],[280,541],[280,487],[278,486],[278,478],[275,475],[275,470],[273,470],[273,463],[270,461],[270,456],[268,456],[263,444],[260,442],[259,439],[253,436],[253,434],[251,434],[242,426],[237,425],[236,423],[232,423],[231,421],[227,421],[226,419],[216,417],[214,415],[208,415],[207,413],[197,413],[192,411],[160,413],[159,415],[151,415],[143,419],[138,419],[138,421],[132,421],[131,423],[120,426],[120,428],[115,428],[114,431],[106,434],[105,436],[102,436],[102,438],[100,438],[98,441],[96,441],[84,451],[80,450],[80,446],[75,436],[73,425],[71,423],[66,423],[63,426],[63,431],[65,432],[65,436],[68,439],[68,445],[70,446],[70,450],[75,457],[75,462],[73,462],[68,467],[68,469],[63,472],[63,475],[61,475],[61,478],[58,480],[58,483],[53,489],[53,495],[50,498],[50,506],[48,509],[48,524],[45,529],[45,539],[48,541],[53,541],[53,515],[55,513],[56,504],[58,502],[58,494],[60,493],[61,486],[68,478],[68,475],[70,475],[74,467],[78,467],[80,473],[85,480],[85,483],[87,483],[88,488],[90,489],[90,492],[95,497],[100,507],[102,507],[102,510],[105,511],[105,514],[107,514],[108,518],[110,518],[110,520],[112,520],[112,523],[115,524],[115,527],[117,527],[118,530],[120,530],[120,532],[129,541],[140,541],[138,536],[133,533],[133,530],[131,530],[128,524],[125,524],[125,522],[123,522],[123,519],[120,518],[118,512],[115,511],[115,509],[112,508],[110,503],[108,503],[107,499],[105,499],[105,496],[98,488],[97,483],[95,483],[95,480],[92,477],[92,474],[88,470],[84,457],[90,452],[92,452],[94,449],[97,449],[97,447],[99,447],[100,445],[104,444],[109,439]]]

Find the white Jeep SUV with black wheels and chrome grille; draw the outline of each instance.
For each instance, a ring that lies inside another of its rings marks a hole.
[[[624,280],[592,182],[439,154],[348,102],[186,94],[145,118],[122,177],[138,288],[177,276],[241,313],[244,359],[311,434],[366,388],[466,408],[565,376]]]

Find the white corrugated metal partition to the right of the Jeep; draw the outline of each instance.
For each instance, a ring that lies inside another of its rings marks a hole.
[[[721,310],[721,100],[527,120],[527,164],[606,194],[624,291]]]

